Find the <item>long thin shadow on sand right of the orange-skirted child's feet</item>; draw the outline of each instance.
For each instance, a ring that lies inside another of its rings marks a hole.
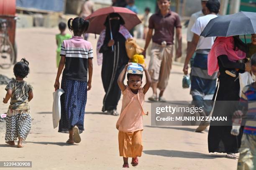
[[[223,155],[214,154],[203,154],[199,152],[185,152],[179,150],[144,150],[145,154],[148,155],[158,155],[164,157],[181,157],[181,158],[192,158],[192,159],[215,159],[219,157],[224,157]]]

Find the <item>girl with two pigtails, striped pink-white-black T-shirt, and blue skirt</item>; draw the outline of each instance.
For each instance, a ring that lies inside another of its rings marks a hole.
[[[81,37],[88,27],[89,21],[83,18],[68,20],[68,28],[74,36],[61,44],[61,61],[54,84],[55,90],[59,89],[59,77],[65,66],[61,79],[61,89],[65,93],[61,95],[58,132],[69,133],[68,144],[81,141],[79,134],[84,130],[87,91],[92,87],[92,44]]]

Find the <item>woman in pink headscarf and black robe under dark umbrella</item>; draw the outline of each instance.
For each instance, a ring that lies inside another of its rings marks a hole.
[[[246,58],[248,48],[239,36],[255,34],[256,13],[239,12],[231,15],[216,17],[206,25],[201,36],[217,37],[208,54],[208,74],[219,71],[219,85],[215,90],[215,106],[212,117],[227,116],[229,119],[236,111],[240,99],[240,82],[238,73],[251,71],[250,63],[238,62]],[[226,70],[239,70],[235,77],[226,74]],[[228,101],[228,102],[227,102]],[[218,122],[220,123],[220,122]],[[232,121],[225,122],[225,126],[210,123],[208,132],[209,152],[227,153],[227,158],[236,159],[235,153],[241,145],[242,129],[238,136],[230,134]],[[224,125],[221,123],[221,125]]]

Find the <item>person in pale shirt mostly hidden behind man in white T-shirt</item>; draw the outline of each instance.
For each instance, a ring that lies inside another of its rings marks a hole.
[[[190,48],[189,46],[191,45],[192,38],[194,36],[194,33],[191,31],[191,28],[195,24],[197,18],[205,15],[207,1],[208,0],[201,0],[202,10],[197,11],[196,13],[193,13],[189,19],[189,23],[187,26],[187,51]],[[194,58],[195,58],[195,53],[193,54],[192,58],[190,59],[190,66],[193,66]]]

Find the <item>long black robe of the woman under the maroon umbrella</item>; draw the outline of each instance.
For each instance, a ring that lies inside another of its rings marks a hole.
[[[107,33],[108,29],[106,30]],[[100,48],[103,53],[101,78],[105,90],[102,111],[111,111],[116,109],[121,96],[121,90],[118,86],[118,76],[128,63],[129,58],[125,50],[125,38],[121,33],[113,35],[115,41],[114,51],[108,47],[109,38],[106,36],[104,44]]]

